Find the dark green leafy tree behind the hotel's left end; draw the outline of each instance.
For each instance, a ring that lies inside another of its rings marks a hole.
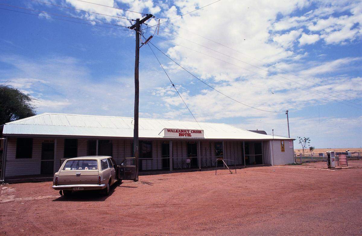
[[[0,84],[0,125],[35,115],[34,100],[19,89]]]

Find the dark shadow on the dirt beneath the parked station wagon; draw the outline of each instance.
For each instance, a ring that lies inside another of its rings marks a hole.
[[[73,191],[70,196],[59,196],[59,198],[54,199],[53,202],[103,202],[106,201],[106,199],[114,193],[117,186],[121,184],[122,183],[113,184],[107,196],[102,195],[102,191],[100,190]]]

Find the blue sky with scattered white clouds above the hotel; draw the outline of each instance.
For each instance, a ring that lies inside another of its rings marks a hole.
[[[220,0],[189,14],[216,0],[87,1],[0,2],[0,83],[38,114],[133,117],[135,32],[122,26],[149,13],[159,50],[140,48],[140,117],[194,120],[152,49],[197,121],[288,136],[289,110],[292,138],[362,146],[361,1]]]

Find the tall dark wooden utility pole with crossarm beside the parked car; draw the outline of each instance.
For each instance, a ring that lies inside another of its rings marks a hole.
[[[134,127],[133,127],[133,155],[136,158],[136,177],[134,181],[138,181],[138,154],[139,154],[139,143],[138,143],[138,107],[139,107],[139,80],[138,80],[138,68],[139,68],[139,37],[141,24],[150,19],[152,14],[147,14],[142,20],[136,19],[136,24],[129,27],[130,29],[136,30],[136,55],[135,55],[135,107],[134,107]]]

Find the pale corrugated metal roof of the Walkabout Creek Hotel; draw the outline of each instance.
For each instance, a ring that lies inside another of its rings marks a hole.
[[[268,140],[272,135],[258,134],[223,123],[139,118],[140,138],[163,138],[164,128],[204,130],[205,139]],[[101,115],[43,113],[6,123],[4,135],[51,135],[92,137],[133,137],[133,118]],[[274,135],[274,139],[290,139]]]

